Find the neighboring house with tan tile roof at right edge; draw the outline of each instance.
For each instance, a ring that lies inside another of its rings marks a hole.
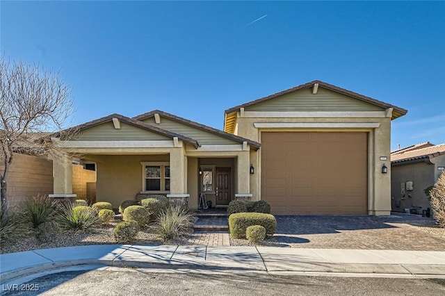
[[[445,144],[425,142],[391,152],[392,210],[421,214],[430,208],[423,190],[437,181],[444,168]]]

